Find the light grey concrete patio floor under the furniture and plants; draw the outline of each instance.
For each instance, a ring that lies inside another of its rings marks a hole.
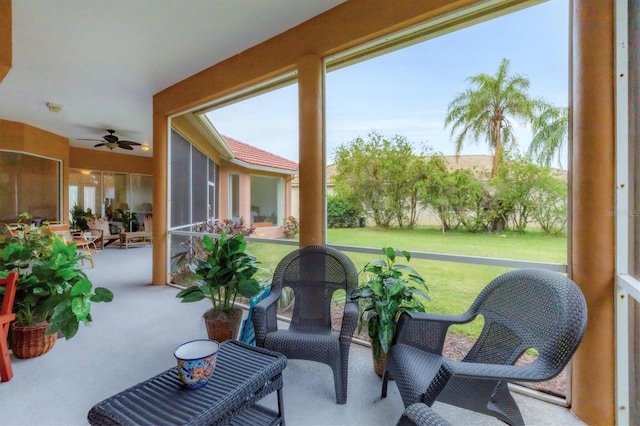
[[[44,356],[11,356],[14,378],[0,383],[0,425],[82,425],[96,403],[175,364],[173,349],[205,338],[207,304],[183,304],[169,286],[150,286],[151,248],[107,248],[85,269],[94,285],[114,292],[95,304],[93,323],[72,340],[58,339]],[[284,371],[288,425],[394,425],[403,406],[391,382],[380,398],[370,349],[352,346],[346,405],[337,405],[331,370],[323,364],[289,360]],[[211,385],[211,384],[209,384]],[[528,425],[583,425],[568,409],[516,394]],[[275,407],[275,397],[264,400]],[[441,403],[434,410],[453,425],[502,424],[492,417]]]

